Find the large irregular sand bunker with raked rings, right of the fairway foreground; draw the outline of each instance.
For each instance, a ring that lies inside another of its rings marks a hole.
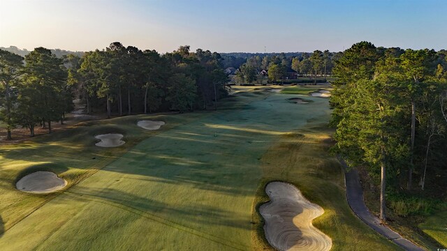
[[[278,250],[330,250],[332,240],[312,225],[323,208],[302,196],[295,186],[272,182],[265,188],[270,201],[259,211],[270,245]]]

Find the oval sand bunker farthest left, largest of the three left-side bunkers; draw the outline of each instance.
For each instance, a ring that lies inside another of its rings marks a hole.
[[[20,178],[15,187],[24,192],[48,193],[61,190],[66,185],[67,182],[53,172],[38,171]]]

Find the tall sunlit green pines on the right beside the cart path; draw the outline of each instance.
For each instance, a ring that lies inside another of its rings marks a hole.
[[[362,165],[380,176],[382,220],[387,195],[403,188],[422,193],[429,176],[435,181],[446,172],[446,59],[444,50],[361,42],[335,61],[333,150],[352,167]]]

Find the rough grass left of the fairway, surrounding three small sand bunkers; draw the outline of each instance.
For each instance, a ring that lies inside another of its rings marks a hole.
[[[124,154],[146,137],[159,131],[147,131],[136,126],[140,119],[166,121],[161,128],[168,130],[180,123],[196,119],[189,116],[128,116],[104,121],[80,123],[73,128],[52,135],[42,135],[29,142],[8,144],[0,147],[0,215],[3,231],[9,229],[25,216],[50,201],[62,191],[50,195],[32,195],[15,189],[15,183],[32,172],[50,171],[64,178],[66,189],[91,176]],[[95,135],[118,132],[124,134],[124,144],[118,148],[95,146]],[[0,229],[2,230],[2,229]],[[1,234],[1,231],[0,231]]]

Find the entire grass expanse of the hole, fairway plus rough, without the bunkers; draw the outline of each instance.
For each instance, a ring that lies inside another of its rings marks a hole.
[[[12,174],[32,160],[19,159],[20,149],[2,149],[8,154],[2,154],[0,174],[14,172],[0,181],[0,199],[23,199],[0,207],[0,249],[272,249],[260,230],[263,222],[257,208],[268,201],[265,185],[280,179],[324,208],[314,226],[332,238],[332,250],[398,250],[363,225],[346,203],[341,169],[324,144],[330,138],[325,127],[328,100],[306,96],[313,102],[296,105],[287,100],[293,97],[241,91],[217,112],[128,116],[68,129],[82,130],[85,139],[57,142],[57,147],[64,146],[64,159],[54,165],[57,170],[47,169],[68,180],[68,188],[55,195],[14,190],[17,177]],[[148,131],[137,126],[142,119],[167,123]],[[107,130],[100,131],[101,125]],[[126,135],[125,149],[92,147],[91,135],[111,131]],[[51,147],[54,135],[23,143],[29,146],[26,155],[38,156],[40,147]],[[45,151],[43,163],[34,164],[45,165],[52,158],[56,162],[58,151],[62,150]],[[302,153],[302,161],[293,161]],[[72,163],[76,158],[80,161]],[[91,171],[96,160],[105,164]],[[75,172],[89,175],[76,179]],[[23,213],[15,213],[19,211]]]

